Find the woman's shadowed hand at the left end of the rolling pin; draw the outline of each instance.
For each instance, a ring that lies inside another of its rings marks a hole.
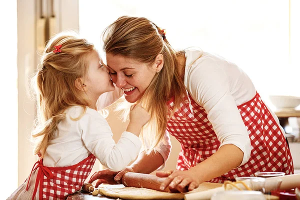
[[[98,187],[102,183],[107,183],[107,184],[122,184],[122,176],[127,173],[127,172],[132,172],[132,168],[127,166],[121,171],[112,171],[110,169],[103,169],[100,171],[94,172],[90,179],[89,183],[92,183],[93,181],[97,180],[95,184],[95,187]]]

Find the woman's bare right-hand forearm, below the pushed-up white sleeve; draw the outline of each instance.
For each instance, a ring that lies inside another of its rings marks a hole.
[[[189,170],[195,177],[198,177],[200,182],[204,182],[237,167],[241,163],[242,158],[243,152],[237,146],[225,144],[213,155]]]

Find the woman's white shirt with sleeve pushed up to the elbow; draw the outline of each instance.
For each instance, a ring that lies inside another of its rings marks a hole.
[[[251,79],[234,63],[200,48],[185,49],[185,57],[184,85],[187,92],[204,107],[220,146],[233,144],[240,148],[244,153],[240,165],[244,164],[251,153],[250,138],[237,105],[249,101],[256,94]],[[277,116],[269,111],[279,125]],[[159,150],[164,160],[169,150],[170,145]]]

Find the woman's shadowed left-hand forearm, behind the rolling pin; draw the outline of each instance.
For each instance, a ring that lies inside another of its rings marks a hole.
[[[163,164],[164,160],[159,152],[152,151],[146,154],[144,151],[138,154],[137,159],[130,165],[134,172],[151,173]]]

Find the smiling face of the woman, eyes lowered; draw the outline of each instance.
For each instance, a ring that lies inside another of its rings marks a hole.
[[[150,66],[121,55],[106,53],[106,62],[111,79],[124,91],[128,102],[137,101],[150,84],[157,71],[157,61]],[[162,61],[163,65],[163,61]]]

